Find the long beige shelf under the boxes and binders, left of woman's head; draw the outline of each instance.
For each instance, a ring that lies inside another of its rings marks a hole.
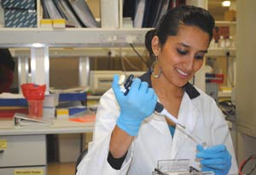
[[[150,28],[102,29],[102,28],[1,28],[1,48],[31,48],[34,43],[43,47],[130,47],[144,46],[144,37]]]

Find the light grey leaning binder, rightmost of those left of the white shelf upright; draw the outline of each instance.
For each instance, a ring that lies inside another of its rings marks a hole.
[[[68,0],[74,12],[79,16],[79,20],[86,27],[98,27],[88,4],[84,0]]]

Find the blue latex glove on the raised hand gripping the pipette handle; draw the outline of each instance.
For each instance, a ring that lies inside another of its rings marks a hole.
[[[117,126],[131,136],[136,136],[142,121],[154,112],[157,96],[148,82],[135,78],[125,96],[119,88],[119,76],[113,76],[112,88],[120,106]]]

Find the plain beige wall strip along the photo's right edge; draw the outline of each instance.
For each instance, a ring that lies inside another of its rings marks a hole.
[[[256,154],[256,1],[237,0],[238,163]],[[255,171],[254,171],[255,172]]]

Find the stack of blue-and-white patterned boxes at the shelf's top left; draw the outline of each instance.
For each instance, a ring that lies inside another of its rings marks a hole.
[[[37,27],[35,0],[2,0],[5,27]]]

